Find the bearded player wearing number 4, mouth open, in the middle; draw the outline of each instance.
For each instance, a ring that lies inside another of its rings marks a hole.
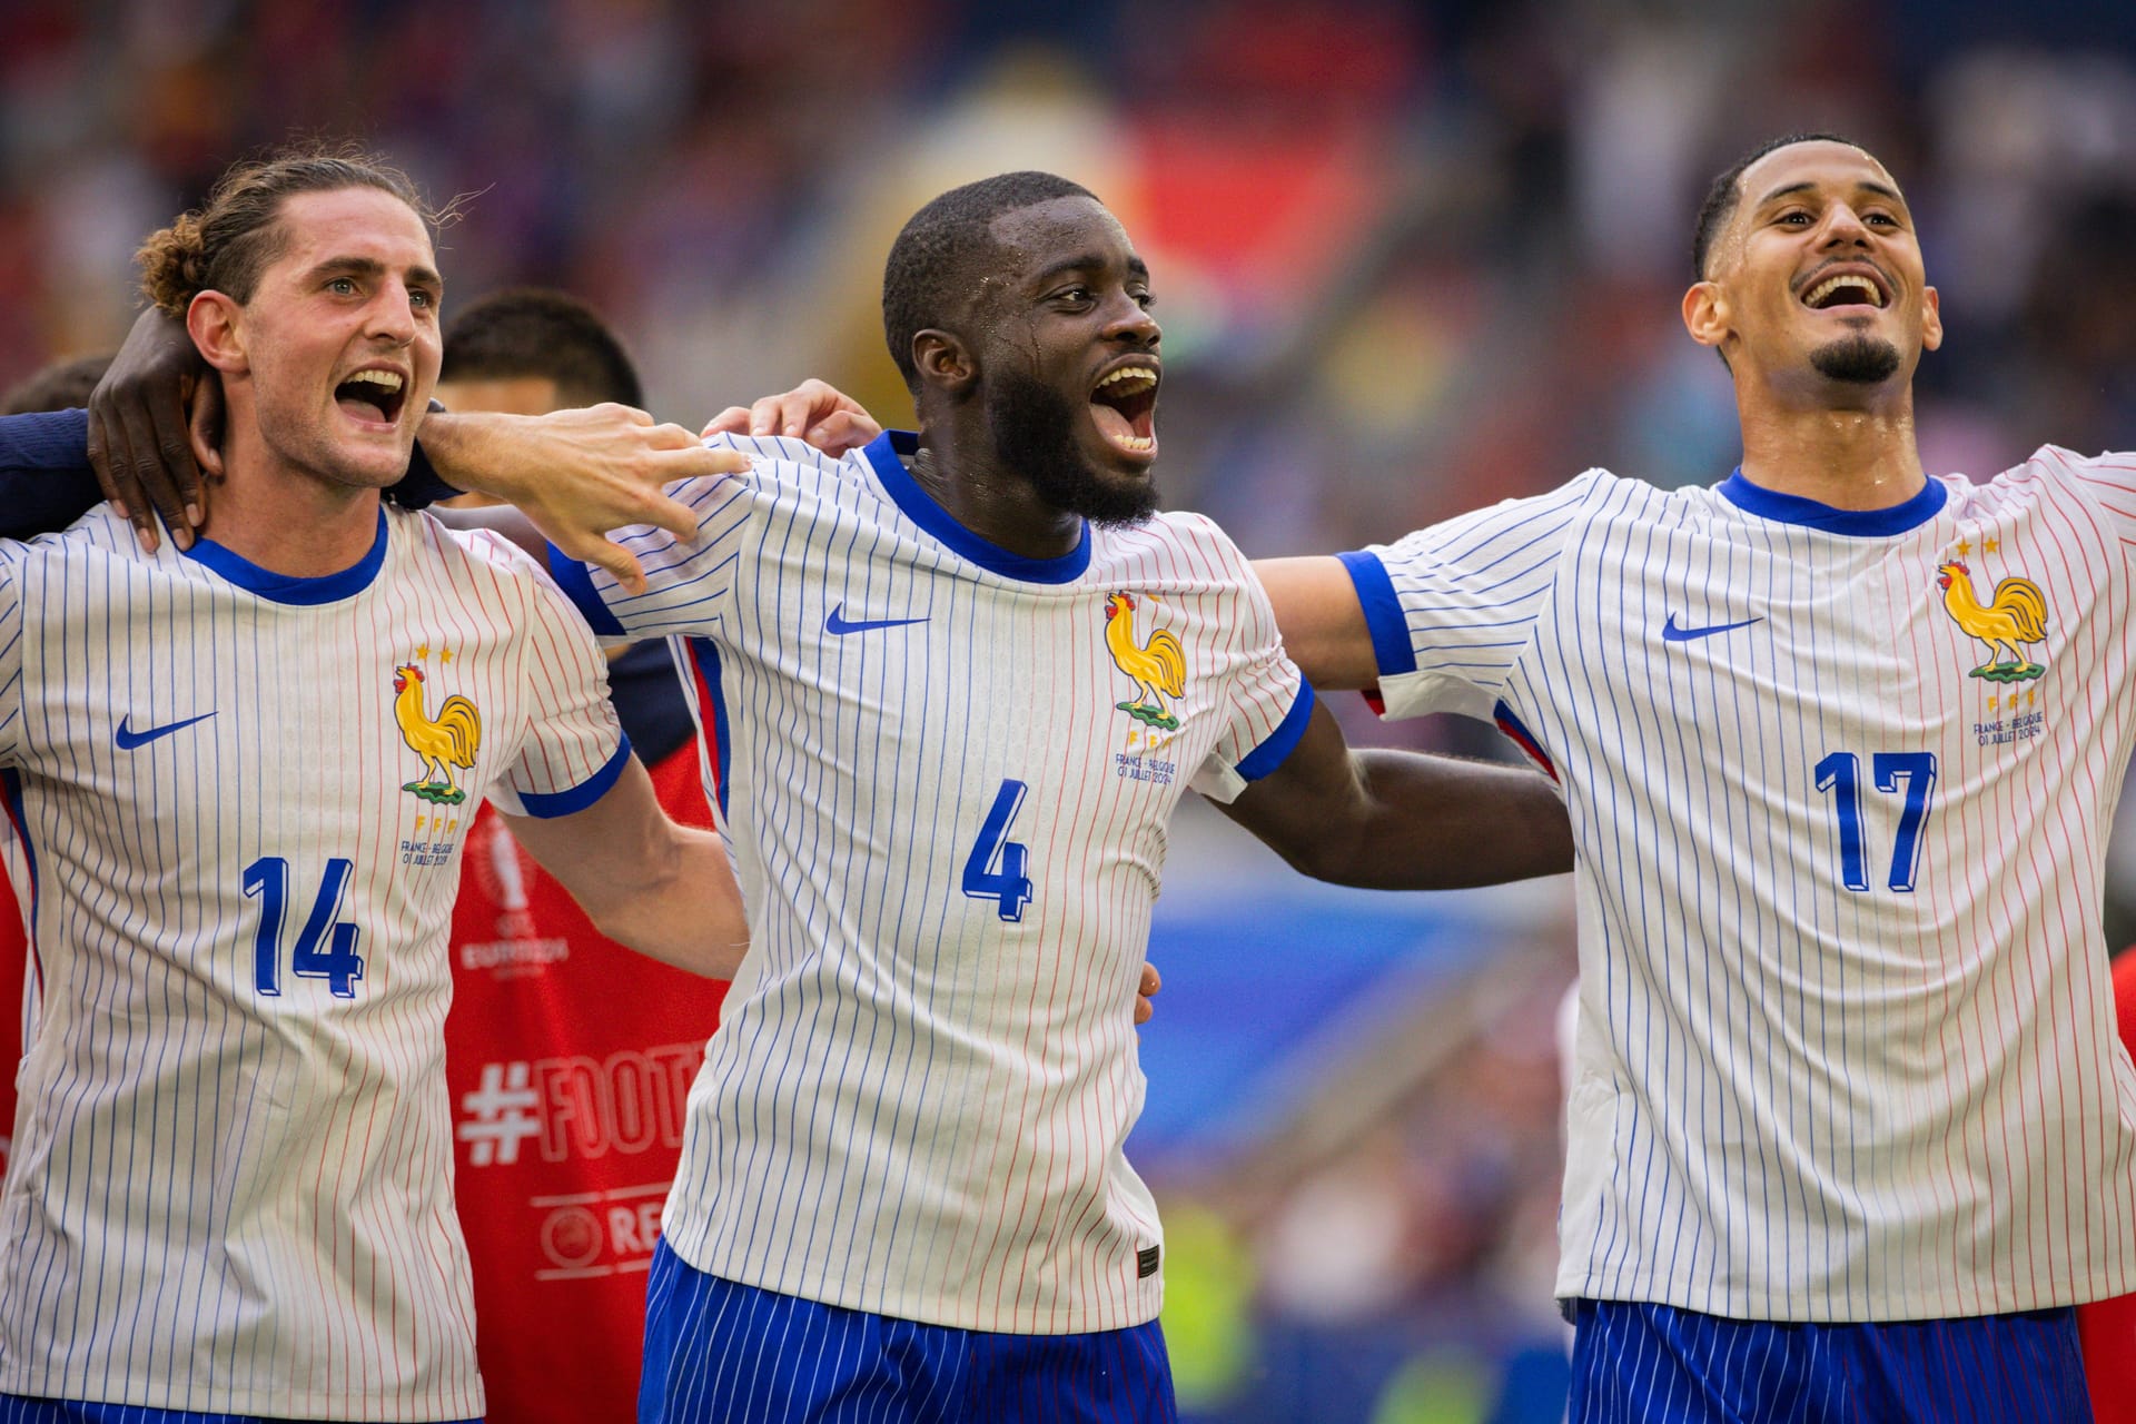
[[[739,442],[694,538],[624,538],[645,596],[557,566],[596,630],[681,638],[750,903],[645,1420],[1173,1418],[1121,1142],[1179,796],[1352,884],[1568,865],[1542,777],[1348,751],[1230,540],[1153,515],[1149,299],[1083,188],[953,190],[884,278],[916,436]]]

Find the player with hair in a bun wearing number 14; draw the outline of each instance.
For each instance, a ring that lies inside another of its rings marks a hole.
[[[0,544],[41,995],[0,1418],[472,1418],[440,1061],[470,801],[677,963],[731,971],[739,901],[553,585],[380,506],[438,371],[406,179],[244,164],[143,265],[220,376],[226,497],[186,551],[109,506]]]

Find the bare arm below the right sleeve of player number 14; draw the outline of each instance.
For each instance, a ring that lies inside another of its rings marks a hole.
[[[504,824],[602,935],[677,969],[735,978],[750,924],[726,850],[660,809],[639,758],[583,811]]]

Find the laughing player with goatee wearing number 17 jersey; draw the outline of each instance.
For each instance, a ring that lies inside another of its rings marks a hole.
[[[2070,1307],[2136,1289],[2136,457],[1925,476],[1939,299],[1846,139],[1719,175],[1683,322],[1734,378],[1719,485],[1589,470],[1262,579],[1316,681],[1564,786],[1572,1418],[2085,1420]]]

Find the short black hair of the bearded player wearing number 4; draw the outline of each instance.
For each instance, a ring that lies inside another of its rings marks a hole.
[[[1098,201],[1089,188],[1053,173],[998,173],[951,188],[912,213],[897,233],[891,260],[882,267],[882,335],[891,342],[891,359],[906,378],[906,389],[921,389],[912,337],[942,327],[951,305],[972,290],[972,269],[995,254],[989,224],[1002,213],[1053,199]]]

